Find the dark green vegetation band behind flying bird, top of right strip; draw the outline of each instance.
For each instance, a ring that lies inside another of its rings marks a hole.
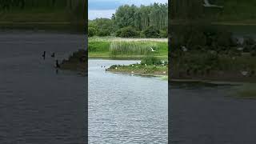
[[[222,8],[204,7],[203,0],[171,0],[170,10],[173,19],[210,18],[215,21],[254,20],[256,18],[254,0],[209,0],[210,4]]]

